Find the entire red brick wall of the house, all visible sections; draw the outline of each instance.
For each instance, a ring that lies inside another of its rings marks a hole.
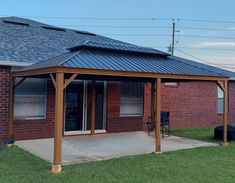
[[[6,139],[9,113],[9,67],[0,67],[0,139]],[[138,131],[150,116],[151,85],[145,85],[144,117],[120,117],[120,82],[108,82],[107,132]],[[47,118],[45,120],[15,120],[16,140],[53,137],[54,87],[48,82]],[[235,82],[229,83],[229,122],[235,122]],[[170,111],[173,128],[203,127],[222,124],[217,114],[217,86],[213,82],[184,82],[179,86],[162,85],[162,111]]]

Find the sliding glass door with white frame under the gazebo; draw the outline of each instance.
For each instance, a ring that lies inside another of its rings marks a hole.
[[[96,82],[96,132],[106,128],[106,90],[106,82]],[[73,81],[65,93],[65,134],[90,133],[92,81]]]

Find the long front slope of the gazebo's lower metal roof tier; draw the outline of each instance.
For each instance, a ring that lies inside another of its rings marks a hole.
[[[178,75],[226,76],[174,57],[144,56],[84,50],[61,64],[64,67]]]

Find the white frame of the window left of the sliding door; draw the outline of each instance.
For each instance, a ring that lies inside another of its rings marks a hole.
[[[44,79],[45,80],[45,95],[44,95],[44,115],[43,117],[27,117],[27,116],[15,116],[15,113],[13,114],[14,116],[14,120],[45,120],[47,119],[47,84],[48,84],[48,81],[47,79],[45,78],[41,78],[41,79]],[[15,98],[16,98],[17,94],[16,92],[14,93],[14,106],[15,106]],[[18,96],[39,96],[39,95],[18,95]],[[42,96],[42,95],[41,95]],[[15,107],[14,107],[14,110],[15,110]]]

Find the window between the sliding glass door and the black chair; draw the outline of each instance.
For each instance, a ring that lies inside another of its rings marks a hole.
[[[121,84],[121,116],[143,115],[143,83],[122,82]]]

